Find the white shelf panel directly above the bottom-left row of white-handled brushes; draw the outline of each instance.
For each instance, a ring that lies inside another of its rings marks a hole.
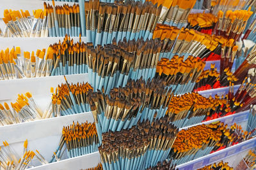
[[[94,122],[92,112],[78,113],[56,118],[47,118],[21,124],[0,127],[0,141],[7,141],[14,150],[22,155],[23,143],[28,139],[29,150],[39,150],[45,159],[50,160],[60,142],[63,126],[74,122]],[[66,159],[67,155],[63,156]],[[37,160],[33,165],[40,165]]]

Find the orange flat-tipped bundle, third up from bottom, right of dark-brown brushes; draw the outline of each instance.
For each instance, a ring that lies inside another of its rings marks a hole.
[[[192,92],[195,80],[204,70],[205,62],[195,57],[189,56],[184,61],[184,56],[175,55],[171,60],[162,58],[156,67],[156,78],[166,81],[168,88],[174,94],[184,94]]]

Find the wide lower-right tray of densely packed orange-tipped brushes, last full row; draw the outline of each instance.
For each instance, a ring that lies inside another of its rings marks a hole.
[[[251,132],[241,129],[236,124],[228,129],[227,124],[220,122],[182,129],[173,143],[170,158],[173,159],[173,164],[184,164],[252,138]]]

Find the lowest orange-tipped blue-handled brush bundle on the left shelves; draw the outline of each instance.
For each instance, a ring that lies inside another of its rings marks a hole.
[[[68,158],[73,158],[97,152],[99,145],[95,123],[73,122],[72,125],[63,127],[60,143],[50,162],[59,161],[65,150]]]

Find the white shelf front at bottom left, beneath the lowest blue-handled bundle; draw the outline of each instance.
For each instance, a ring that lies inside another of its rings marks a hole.
[[[37,166],[30,168],[29,170],[63,170],[63,169],[88,169],[97,166],[100,162],[99,152],[90,153],[88,155],[83,155],[80,157],[74,157],[72,159],[65,159],[59,162],[53,162],[51,164],[46,164],[43,166]]]

